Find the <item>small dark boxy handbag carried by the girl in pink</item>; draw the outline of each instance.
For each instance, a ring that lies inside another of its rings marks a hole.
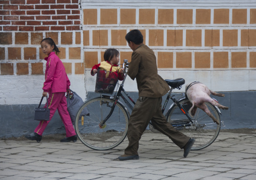
[[[43,100],[43,96],[39,103],[38,108],[35,108],[35,118],[38,121],[49,121],[50,120],[50,109],[48,108],[48,96],[46,96],[46,108],[40,108]]]

